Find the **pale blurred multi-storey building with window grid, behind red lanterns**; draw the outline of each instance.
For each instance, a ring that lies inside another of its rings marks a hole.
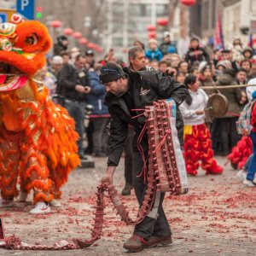
[[[162,39],[168,26],[157,26],[157,20],[170,20],[169,0],[106,0],[107,27],[104,32],[104,46],[113,48],[116,55],[125,57],[125,49],[134,40],[148,42],[147,26],[156,26],[156,38]]]

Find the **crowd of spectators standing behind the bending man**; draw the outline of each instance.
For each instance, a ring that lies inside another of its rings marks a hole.
[[[168,67],[176,69],[173,74],[179,83],[184,83],[188,75],[194,75],[201,89],[205,86],[256,84],[256,55],[253,49],[241,44],[236,38],[225,49],[207,49],[201,46],[199,38],[191,38],[185,55],[179,55],[172,44],[169,32],[165,32],[162,42],[148,40],[147,44],[134,41],[131,47],[143,49],[140,55],[142,67],[154,68],[162,73]],[[79,155],[108,155],[108,125],[110,122],[108,108],[104,105],[105,87],[101,84],[97,70],[107,62],[117,63],[122,67],[131,65],[119,60],[114,49],[99,59],[96,53],[87,49],[85,52],[77,47],[68,48],[65,36],[59,36],[54,47],[54,55],[49,57],[48,66],[40,72],[44,84],[49,87],[51,96],[58,94],[59,102],[67,108],[76,121],[79,141]],[[136,62],[136,61],[135,61]],[[136,64],[136,63],[135,63]],[[227,155],[239,140],[236,121],[241,109],[251,99],[252,87],[219,90],[228,99],[228,112],[221,118],[212,118],[206,111],[206,124],[212,134],[214,154]],[[206,90],[211,96],[214,90]],[[91,105],[90,125],[86,128],[86,148],[84,148],[84,115],[86,106]]]

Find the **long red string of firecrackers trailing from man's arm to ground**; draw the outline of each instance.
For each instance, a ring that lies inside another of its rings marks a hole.
[[[83,240],[83,239],[72,239],[68,241],[61,240],[61,241],[56,241],[53,245],[46,246],[46,245],[29,245],[22,242],[19,237],[9,236],[5,240],[4,247],[7,249],[14,249],[14,250],[70,250],[70,249],[81,249],[85,247],[90,247],[90,245],[92,245],[95,241],[100,239],[100,237],[102,236],[102,228],[103,228],[104,214],[105,214],[104,209],[106,207],[106,205],[104,204],[104,193],[108,192],[108,196],[113,202],[114,208],[117,210],[119,216],[125,222],[125,224],[132,224],[132,225],[138,224],[141,221],[143,221],[143,218],[145,218],[148,212],[150,212],[154,203],[154,196],[156,195],[157,191],[161,190],[160,177],[163,176],[164,174],[163,172],[166,172],[166,174],[164,175],[166,176],[166,181],[169,182],[168,191],[171,192],[172,195],[182,195],[184,193],[187,193],[187,189],[185,189],[186,191],[184,192],[184,189],[182,188],[182,185],[181,185],[181,179],[180,177],[178,177],[179,174],[178,174],[177,166],[175,164],[175,161],[176,161],[175,157],[174,156],[171,157],[172,163],[168,163],[167,154],[174,155],[173,154],[174,148],[169,147],[172,144],[172,142],[170,141],[172,140],[171,135],[168,133],[165,138],[165,135],[163,134],[163,131],[171,129],[170,123],[168,127],[168,119],[167,119],[167,115],[169,115],[170,113],[168,113],[167,104],[164,108],[165,104],[166,103],[164,101],[154,102],[154,107],[156,109],[150,108],[152,112],[158,112],[159,114],[163,113],[165,115],[165,122],[163,122],[163,126],[160,129],[160,131],[158,131],[158,128],[156,127],[158,125],[156,126],[153,125],[153,124],[157,124],[157,120],[158,120],[157,114],[154,115],[155,120],[151,119],[150,122],[149,121],[147,122],[148,142],[151,142],[150,143],[151,147],[149,147],[149,151],[150,150],[152,151],[149,154],[149,160],[148,160],[148,173],[147,173],[148,188],[146,190],[143,205],[137,214],[136,220],[133,221],[128,216],[128,212],[124,204],[122,203],[122,201],[119,199],[118,192],[113,187],[113,185],[102,183],[97,187],[96,207],[95,207],[96,212],[95,212],[93,228],[91,230],[91,238],[89,240]],[[158,134],[158,132],[160,132],[160,134]],[[143,135],[140,135],[140,136],[143,137]],[[155,137],[159,137],[159,136],[162,138],[165,138],[166,143],[164,143],[163,140],[161,140],[159,143],[156,143],[156,142],[152,143],[153,141],[155,141]],[[161,164],[161,163],[158,162],[158,159],[160,159],[160,157],[158,157],[158,155],[156,154],[157,153],[160,154],[160,150],[156,152],[156,148],[158,148],[159,144],[161,144],[160,147],[164,152],[164,158],[165,158],[164,166],[166,167],[166,170],[164,170],[164,168],[160,168],[158,170],[158,164]],[[166,145],[168,145],[168,147],[166,147]],[[170,152],[168,152],[168,150]],[[170,165],[174,166],[172,170],[173,173],[171,173]],[[166,183],[164,187],[166,189]]]

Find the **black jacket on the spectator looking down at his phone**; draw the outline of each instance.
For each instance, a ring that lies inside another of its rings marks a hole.
[[[70,101],[85,102],[84,93],[75,90],[76,84],[87,84],[85,71],[79,72],[73,65],[64,65],[58,73],[57,94]]]

